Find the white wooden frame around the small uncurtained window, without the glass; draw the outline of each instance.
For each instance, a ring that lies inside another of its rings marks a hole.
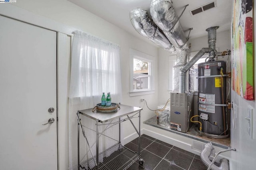
[[[133,71],[133,60],[138,59],[142,61],[149,62],[148,68],[148,77],[149,77],[149,88],[147,89],[133,89],[133,78],[134,78],[134,71]],[[152,57],[148,54],[142,53],[140,51],[136,51],[134,49],[130,49],[130,96],[139,96],[145,94],[154,94],[154,79],[155,79],[155,57]]]

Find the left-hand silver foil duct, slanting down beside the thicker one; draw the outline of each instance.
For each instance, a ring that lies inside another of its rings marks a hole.
[[[175,52],[175,47],[148,17],[145,10],[141,8],[131,10],[130,20],[134,29],[140,33],[140,35],[147,37],[150,41],[171,53]]]

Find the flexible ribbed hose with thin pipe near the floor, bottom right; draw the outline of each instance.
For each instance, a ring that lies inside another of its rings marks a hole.
[[[206,143],[206,145],[204,146],[204,149],[202,150],[201,154],[200,154],[200,158],[202,160],[202,162],[204,163],[205,166],[208,167],[208,170],[229,170],[229,162],[227,159],[222,158],[220,160],[220,166],[216,166],[214,165],[214,160],[215,158],[218,156],[218,154],[222,153],[222,152],[227,152],[229,150],[236,150],[236,149],[226,149],[224,151],[220,151],[218,152],[218,154],[216,154],[216,156],[214,157],[214,159],[212,160],[212,162],[210,161],[209,157],[210,154],[212,152],[212,150],[214,149],[214,147],[212,146],[212,143]]]

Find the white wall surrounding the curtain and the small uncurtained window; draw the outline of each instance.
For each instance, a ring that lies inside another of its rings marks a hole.
[[[146,119],[149,119],[154,115],[153,112],[149,112],[146,109],[144,102],[140,102],[140,98],[144,98],[147,100],[148,105],[155,109],[157,106],[157,96],[158,96],[158,78],[155,78],[155,93],[144,95],[144,96],[129,96],[129,49],[135,49],[137,51],[141,51],[153,57],[156,57],[156,75],[158,74],[157,66],[158,66],[158,48],[151,45],[150,43],[146,43],[123,29],[112,25],[111,23],[95,16],[94,14],[68,2],[66,0],[22,0],[17,1],[17,3],[12,3],[12,5],[17,6],[19,8],[23,8],[28,10],[34,14],[38,14],[40,16],[44,16],[46,18],[58,21],[60,23],[64,23],[70,27],[74,27],[84,32],[88,32],[97,37],[101,37],[102,39],[106,39],[113,43],[120,45],[121,48],[121,75],[122,75],[122,104],[130,105],[130,106],[142,106],[142,116],[141,122]],[[60,34],[62,39],[61,46],[66,48],[64,52],[62,49],[58,49],[63,58],[58,59],[58,64],[60,64],[58,75],[58,81],[63,83],[62,86],[59,86],[58,89],[58,97],[59,97],[59,115],[58,115],[58,137],[59,137],[59,167],[60,170],[68,169],[68,133],[67,133],[67,113],[68,113],[68,83],[69,83],[69,72],[70,72],[70,37]],[[135,120],[135,119],[134,119]],[[134,124],[138,127],[138,120],[134,121]],[[142,123],[142,129],[143,129]],[[123,129],[122,137],[125,140],[125,143],[129,142],[129,140],[137,137],[133,135],[135,130],[133,129],[130,122],[126,121],[122,123],[121,128]],[[125,130],[124,130],[125,129]],[[76,132],[74,132],[76,133]],[[76,140],[76,139],[74,139]]]

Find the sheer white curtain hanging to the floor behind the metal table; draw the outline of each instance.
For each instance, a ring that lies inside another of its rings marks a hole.
[[[102,92],[105,92],[105,94],[106,92],[110,92],[112,103],[122,102],[120,47],[87,33],[74,31],[71,63],[68,137],[69,170],[76,170],[78,164],[78,123],[76,112],[78,110],[92,108],[100,103]],[[83,125],[96,130],[96,122],[94,120],[82,115],[80,118],[82,119]],[[107,125],[100,126],[99,131],[103,131],[106,127]],[[95,156],[96,144],[94,143],[96,141],[96,133],[85,127],[84,130],[86,131],[86,137]],[[118,140],[118,125],[105,131],[104,135]],[[104,135],[101,135],[99,138],[100,152],[117,143]],[[86,140],[80,131],[80,162],[84,162],[91,157],[92,155],[89,152]],[[100,161],[102,161],[102,157]],[[92,168],[94,164],[88,166]]]

